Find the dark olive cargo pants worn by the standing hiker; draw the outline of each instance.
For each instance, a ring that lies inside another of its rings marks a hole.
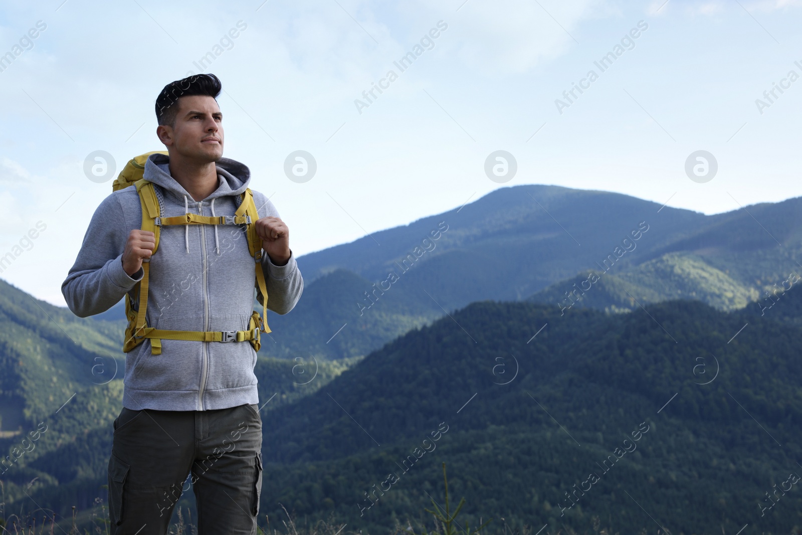
[[[114,421],[108,463],[111,534],[167,533],[190,472],[199,535],[255,534],[262,472],[257,405],[123,408]]]

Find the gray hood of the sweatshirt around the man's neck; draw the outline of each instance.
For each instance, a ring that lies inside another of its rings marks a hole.
[[[192,201],[184,186],[176,182],[170,175],[170,157],[164,154],[152,154],[145,162],[143,177],[162,188],[165,195],[173,196],[182,205]],[[230,158],[221,158],[215,162],[217,167],[217,189],[204,201],[212,201],[217,197],[239,195],[245,192],[250,184],[250,169],[245,164]]]

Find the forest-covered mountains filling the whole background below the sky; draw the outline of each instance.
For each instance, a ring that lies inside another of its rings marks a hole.
[[[418,533],[445,462],[460,521],[492,533],[802,532],[799,205],[752,207],[761,229],[528,185],[376,233],[381,253],[299,258],[304,294],[255,369],[260,526]],[[0,521],[102,513],[123,331],[119,306],[77,318],[0,280]],[[196,517],[192,492],[178,505]]]

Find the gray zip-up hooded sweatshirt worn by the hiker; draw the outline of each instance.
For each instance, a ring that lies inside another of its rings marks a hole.
[[[196,213],[233,216],[250,170],[235,160],[217,161],[217,189],[203,201],[170,176],[169,157],[148,158],[144,178],[156,185],[162,217]],[[279,217],[263,194],[253,191],[259,217]],[[72,312],[85,318],[114,306],[144,272],[123,270],[128,234],[140,229],[142,207],[135,186],[111,193],[92,216],[83,245],[62,293]],[[303,278],[290,251],[286,265],[262,254],[269,310],[287,314],[303,291]],[[254,273],[245,225],[169,225],[160,231],[150,261],[148,326],[169,330],[247,330],[253,312]],[[261,306],[258,309],[261,314]],[[269,316],[269,314],[268,314]],[[268,323],[269,323],[269,317]],[[269,338],[268,338],[269,339]],[[119,341],[122,347],[123,340]],[[250,342],[162,340],[161,355],[151,355],[148,338],[125,359],[123,405],[132,410],[208,411],[258,403],[253,375],[257,353]],[[265,345],[265,340],[262,340]],[[262,350],[264,351],[264,349]]]

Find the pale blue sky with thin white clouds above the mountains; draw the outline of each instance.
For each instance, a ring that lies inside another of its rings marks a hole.
[[[799,197],[800,22],[793,0],[3,2],[0,278],[65,305],[112,179],[164,150],[156,96],[199,72],[296,256],[519,184]]]

